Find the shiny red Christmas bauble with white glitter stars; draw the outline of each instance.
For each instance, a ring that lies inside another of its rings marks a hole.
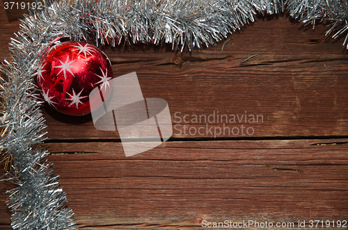
[[[109,58],[86,42],[62,42],[50,48],[38,69],[37,83],[45,101],[68,115],[90,113],[90,92],[99,87],[103,95],[113,78]],[[95,103],[93,103],[95,106]]]

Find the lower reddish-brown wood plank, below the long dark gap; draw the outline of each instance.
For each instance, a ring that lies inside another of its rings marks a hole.
[[[203,220],[344,219],[347,142],[175,141],[129,158],[112,142],[47,148],[81,229],[200,229]]]

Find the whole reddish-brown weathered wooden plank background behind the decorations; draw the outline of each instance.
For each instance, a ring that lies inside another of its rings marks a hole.
[[[0,23],[3,59],[19,22]],[[97,131],[90,115],[42,108],[48,159],[79,229],[203,229],[203,220],[306,220],[312,229],[309,220],[347,220],[348,56],[326,29],[285,14],[258,17],[223,51],[223,42],[191,53],[102,47],[114,76],[136,72],[145,98],[168,101],[175,129],[163,145],[126,158],[118,133]],[[218,111],[263,120],[226,124],[253,135],[184,133],[222,129],[221,121],[182,121]],[[10,229],[9,188],[0,182],[0,229]]]

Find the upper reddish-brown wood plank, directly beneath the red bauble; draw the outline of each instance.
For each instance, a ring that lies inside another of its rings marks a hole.
[[[114,76],[136,72],[145,98],[168,101],[174,138],[347,136],[347,52],[341,40],[324,37],[325,29],[304,30],[279,17],[258,19],[232,35],[223,51],[222,42],[182,54],[166,46],[103,50]],[[242,63],[253,54],[258,56]],[[218,112],[219,122],[204,120]],[[51,108],[44,115],[53,139],[119,138],[117,132],[97,131],[90,115],[68,117]],[[193,115],[203,117],[196,122]],[[221,122],[221,115],[228,121]],[[245,115],[260,115],[260,120],[245,121]],[[225,134],[223,124],[229,128]]]

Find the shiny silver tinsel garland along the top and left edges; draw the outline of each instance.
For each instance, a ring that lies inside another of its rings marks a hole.
[[[1,67],[6,77],[0,83],[0,148],[10,167],[3,181],[17,185],[8,191],[13,229],[76,229],[58,176],[45,161],[48,153],[40,147],[45,120],[33,81],[45,51],[61,38],[112,46],[165,42],[191,51],[224,40],[256,14],[285,10],[313,28],[318,20],[331,24],[333,38],[348,29],[343,0],[62,0],[43,5],[24,15],[10,42],[10,58]]]

